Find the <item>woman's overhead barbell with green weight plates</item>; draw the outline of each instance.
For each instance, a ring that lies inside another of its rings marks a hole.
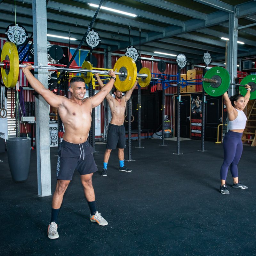
[[[247,89],[246,84],[251,86],[250,100],[256,99],[256,76],[248,75],[242,79],[240,84],[230,83],[228,70],[222,67],[212,67],[202,78],[204,91],[210,96],[221,96],[227,92],[230,84],[239,86],[240,93],[245,96]]]

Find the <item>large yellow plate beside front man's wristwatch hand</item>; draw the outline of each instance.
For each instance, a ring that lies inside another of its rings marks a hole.
[[[135,64],[135,61],[127,56],[122,56],[119,58],[113,68],[113,71],[115,73],[120,73],[121,71],[126,70],[127,75],[126,76],[116,76],[116,81],[115,81],[115,87],[118,91],[121,92],[127,92],[130,89],[132,89],[136,77],[137,77],[137,67]]]

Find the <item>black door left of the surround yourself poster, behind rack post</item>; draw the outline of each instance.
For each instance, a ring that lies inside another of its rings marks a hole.
[[[176,98],[176,102],[178,100]],[[176,104],[177,106],[177,104]],[[175,108],[175,136],[177,136],[177,127],[178,127],[178,108]],[[190,138],[190,96],[181,96],[180,102],[180,137],[181,138]]]

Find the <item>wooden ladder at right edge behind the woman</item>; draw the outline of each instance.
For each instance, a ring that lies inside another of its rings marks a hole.
[[[248,106],[248,105],[247,105]],[[247,135],[252,135],[252,139],[247,139]],[[252,141],[251,146],[256,146],[255,136],[256,135],[256,100],[253,101],[249,115],[247,116],[247,121],[245,129],[242,135],[242,141]]]

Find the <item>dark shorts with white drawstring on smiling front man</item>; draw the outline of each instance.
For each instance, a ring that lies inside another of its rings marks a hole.
[[[90,143],[73,144],[62,140],[58,150],[57,180],[72,180],[75,169],[80,175],[97,172]]]

